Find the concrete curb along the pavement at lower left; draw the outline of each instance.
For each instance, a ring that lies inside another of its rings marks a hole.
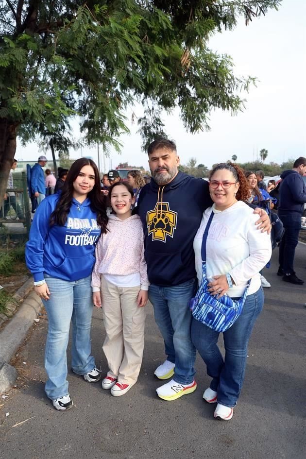
[[[8,362],[25,339],[41,308],[41,300],[32,292],[0,332],[0,392],[5,392],[16,380],[17,372]]]

